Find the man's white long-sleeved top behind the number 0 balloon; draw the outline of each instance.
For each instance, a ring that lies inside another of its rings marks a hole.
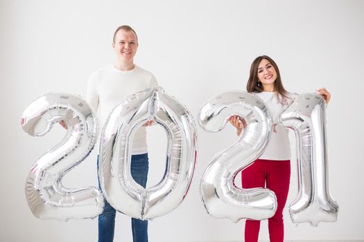
[[[139,66],[121,71],[113,65],[98,69],[87,82],[87,102],[97,111],[100,130],[103,129],[112,109],[129,95],[157,86],[154,75]],[[132,154],[147,153],[146,127],[135,132]]]

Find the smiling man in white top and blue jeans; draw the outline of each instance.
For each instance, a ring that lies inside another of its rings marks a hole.
[[[97,111],[101,127],[112,109],[125,97],[157,86],[157,80],[152,73],[134,64],[138,38],[130,26],[120,26],[116,29],[112,48],[116,55],[114,64],[93,73],[87,83],[87,101]],[[136,131],[132,145],[132,178],[143,187],[146,187],[148,175],[146,126],[152,122],[146,122]],[[105,201],[103,213],[98,216],[99,242],[113,241],[115,215],[114,208]],[[132,218],[132,236],[134,242],[148,241],[148,221]]]

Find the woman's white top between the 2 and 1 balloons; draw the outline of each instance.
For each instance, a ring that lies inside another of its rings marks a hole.
[[[288,104],[291,104],[295,99],[295,94],[287,93],[289,99],[286,99],[286,104],[282,104],[277,99],[275,92],[252,93],[260,97],[268,105],[270,114],[272,115],[273,130],[266,150],[259,157],[263,160],[289,160],[291,159],[291,146],[288,139],[288,129],[279,124],[279,114],[286,109]]]

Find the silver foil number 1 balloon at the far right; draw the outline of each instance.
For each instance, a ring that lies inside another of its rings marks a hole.
[[[297,140],[299,190],[289,212],[293,223],[336,221],[338,203],[329,193],[327,174],[326,104],[318,94],[298,95],[280,115]]]

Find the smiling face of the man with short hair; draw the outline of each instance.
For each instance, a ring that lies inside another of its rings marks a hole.
[[[130,62],[137,53],[138,42],[137,36],[132,31],[123,29],[116,32],[115,41],[112,43],[112,48],[121,61]]]

